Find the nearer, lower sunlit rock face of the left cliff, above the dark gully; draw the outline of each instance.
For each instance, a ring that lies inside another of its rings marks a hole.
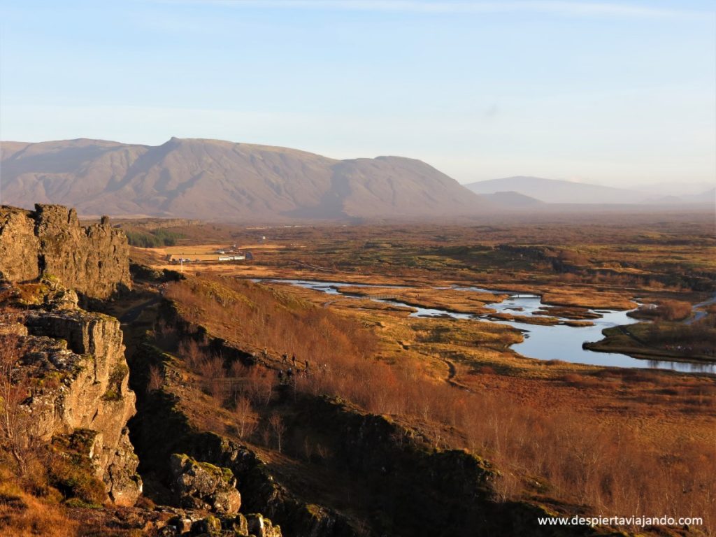
[[[67,306],[66,306],[67,307]],[[89,459],[117,505],[134,505],[142,492],[127,420],[135,394],[127,387],[120,322],[82,309],[29,311],[22,367],[42,379],[27,405],[36,435],[50,440],[88,430]]]

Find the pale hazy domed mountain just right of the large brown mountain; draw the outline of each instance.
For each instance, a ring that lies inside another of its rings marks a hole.
[[[523,176],[478,181],[465,187],[477,194],[512,190],[546,203],[639,203],[644,198],[636,190]]]

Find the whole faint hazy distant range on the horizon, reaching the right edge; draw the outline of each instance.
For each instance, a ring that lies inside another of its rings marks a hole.
[[[709,190],[705,188],[705,191],[697,194],[664,195],[663,193],[650,193],[648,188],[630,190],[524,176],[478,181],[477,183],[469,183],[465,187],[481,195],[495,195],[495,193],[511,191],[545,203],[654,203],[673,205],[679,203],[714,203],[716,198],[715,188]]]

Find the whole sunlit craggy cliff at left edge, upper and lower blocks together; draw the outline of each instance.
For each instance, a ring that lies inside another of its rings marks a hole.
[[[130,286],[128,250],[108,218],[80,226],[59,205],[0,207],[0,334],[19,337],[11,378],[28,383],[25,433],[61,453],[69,442],[64,458],[86,461],[116,505],[134,505],[142,492],[127,429],[135,394],[120,322],[77,304],[78,294],[105,299]]]

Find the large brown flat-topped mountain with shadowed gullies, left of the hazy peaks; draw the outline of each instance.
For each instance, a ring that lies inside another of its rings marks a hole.
[[[61,203],[82,215],[211,220],[440,218],[490,203],[400,157],[333,160],[285,147],[172,138],[2,142],[1,203]]]

